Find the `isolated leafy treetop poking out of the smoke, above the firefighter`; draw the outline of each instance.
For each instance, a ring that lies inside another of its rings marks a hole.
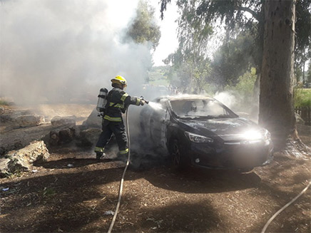
[[[154,13],[155,9],[147,1],[139,1],[136,19],[126,32],[126,36],[136,43],[151,43],[153,50],[160,40],[160,26],[155,24]]]

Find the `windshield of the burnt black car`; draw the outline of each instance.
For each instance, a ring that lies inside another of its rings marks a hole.
[[[236,118],[231,110],[213,99],[170,100],[173,112],[179,118]]]

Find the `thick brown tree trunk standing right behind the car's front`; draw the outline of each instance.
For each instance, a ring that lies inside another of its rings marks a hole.
[[[297,139],[293,104],[295,0],[265,1],[259,123],[277,150]]]

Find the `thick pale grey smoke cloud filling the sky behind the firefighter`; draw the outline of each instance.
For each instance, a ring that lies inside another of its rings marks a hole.
[[[138,91],[151,53],[121,42],[137,2],[1,1],[0,95],[16,103],[96,100],[116,75],[130,95]]]

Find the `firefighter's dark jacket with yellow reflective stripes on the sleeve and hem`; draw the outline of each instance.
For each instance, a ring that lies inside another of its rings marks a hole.
[[[122,113],[125,113],[128,105],[141,105],[141,98],[131,97],[120,88],[113,88],[107,96],[106,112],[103,119],[121,122]]]

